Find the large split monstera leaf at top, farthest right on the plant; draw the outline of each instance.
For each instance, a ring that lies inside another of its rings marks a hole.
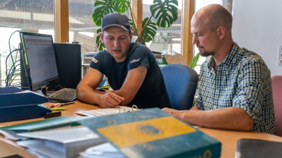
[[[154,0],[154,4],[150,6],[152,16],[157,21],[158,27],[170,27],[177,20],[177,0]],[[156,15],[155,15],[156,14]]]

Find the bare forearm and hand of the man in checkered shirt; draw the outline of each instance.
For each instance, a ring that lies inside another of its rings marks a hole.
[[[227,107],[211,111],[197,110],[174,110],[163,108],[163,111],[193,125],[208,128],[250,131],[254,120],[246,111],[238,107]]]

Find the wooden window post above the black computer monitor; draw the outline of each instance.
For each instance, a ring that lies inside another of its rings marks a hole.
[[[69,42],[68,0],[55,0],[55,42]]]

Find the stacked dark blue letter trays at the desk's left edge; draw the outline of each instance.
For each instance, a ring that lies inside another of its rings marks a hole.
[[[34,93],[17,93],[23,91],[16,87],[0,87],[0,122],[17,121],[43,117],[52,112],[38,106],[48,102],[48,98]]]

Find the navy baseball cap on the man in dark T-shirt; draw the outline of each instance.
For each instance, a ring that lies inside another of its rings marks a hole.
[[[125,31],[131,32],[128,17],[118,12],[110,13],[103,17],[101,31],[110,26],[117,26]]]

